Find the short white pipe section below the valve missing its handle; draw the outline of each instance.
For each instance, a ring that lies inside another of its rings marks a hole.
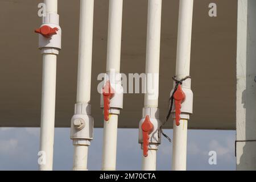
[[[74,145],[73,171],[87,171],[88,147]]]

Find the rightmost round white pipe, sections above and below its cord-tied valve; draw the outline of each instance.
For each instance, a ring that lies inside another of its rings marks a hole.
[[[192,17],[193,0],[180,0],[176,56],[176,76],[178,79],[189,76]],[[188,120],[186,119],[180,119],[179,126],[176,126],[174,121],[173,170],[186,170],[187,126]]]

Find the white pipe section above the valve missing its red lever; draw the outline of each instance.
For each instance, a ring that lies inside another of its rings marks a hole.
[[[79,62],[77,73],[77,102],[90,101],[92,73],[94,0],[80,1]]]

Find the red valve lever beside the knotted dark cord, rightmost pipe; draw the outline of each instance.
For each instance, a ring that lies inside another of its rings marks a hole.
[[[174,93],[174,100],[175,100],[175,120],[176,125],[180,125],[180,114],[181,114],[181,102],[185,100],[185,93],[181,89],[181,85],[178,86],[176,92]]]

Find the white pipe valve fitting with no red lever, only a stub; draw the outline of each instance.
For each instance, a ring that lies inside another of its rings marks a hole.
[[[71,119],[71,139],[73,144],[89,145],[93,139],[93,117],[90,115],[90,104],[75,105],[75,114]],[[89,142],[85,142],[89,141]],[[89,144],[88,144],[89,143]]]

